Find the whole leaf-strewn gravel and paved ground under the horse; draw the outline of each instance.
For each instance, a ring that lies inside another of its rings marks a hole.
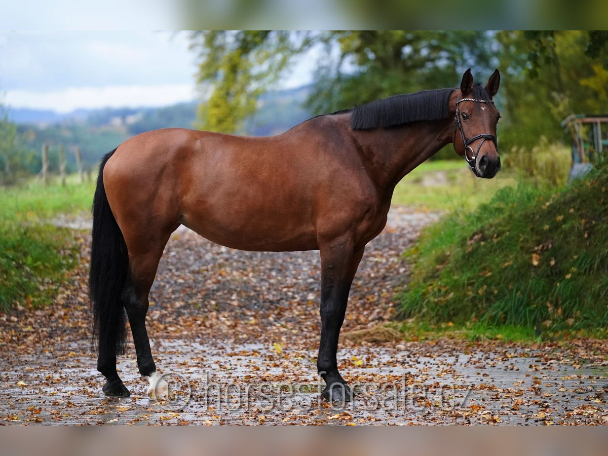
[[[390,320],[408,275],[401,253],[433,219],[396,207],[368,245],[338,353],[356,392],[344,407],[319,398],[318,252],[240,252],[188,230],[165,250],[147,320],[175,398],[148,399],[134,349],[119,360],[131,398],[105,398],[90,345],[88,233],[75,230],[79,266],[55,305],[0,314],[0,423],[608,424],[604,340],[351,341]]]

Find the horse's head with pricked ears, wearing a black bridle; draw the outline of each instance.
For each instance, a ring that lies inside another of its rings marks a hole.
[[[500,170],[496,124],[500,118],[492,97],[498,92],[500,74],[494,71],[485,88],[473,85],[471,69],[456,89],[454,150],[471,166],[475,176],[491,179]]]

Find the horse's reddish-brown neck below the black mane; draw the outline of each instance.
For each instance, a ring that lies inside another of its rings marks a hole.
[[[356,135],[379,190],[392,194],[407,173],[452,142],[452,123],[416,122]]]

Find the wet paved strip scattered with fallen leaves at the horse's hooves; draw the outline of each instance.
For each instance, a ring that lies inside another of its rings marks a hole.
[[[3,369],[4,423],[557,424],[599,415],[608,424],[606,366],[542,363],[534,353],[504,358],[416,356],[408,348],[373,346],[340,350],[341,371],[356,398],[330,407],[320,400],[315,351],[166,340],[153,350],[173,401],[145,396],[134,358],[119,363],[131,398],[108,399],[94,359],[74,353],[61,372],[53,372],[57,361],[41,355],[21,364],[36,368]]]

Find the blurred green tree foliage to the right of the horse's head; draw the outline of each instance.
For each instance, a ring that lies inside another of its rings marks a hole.
[[[564,136],[559,124],[568,115],[608,111],[602,36],[577,30],[496,34],[504,81],[501,147],[530,150],[542,136],[554,143]]]

